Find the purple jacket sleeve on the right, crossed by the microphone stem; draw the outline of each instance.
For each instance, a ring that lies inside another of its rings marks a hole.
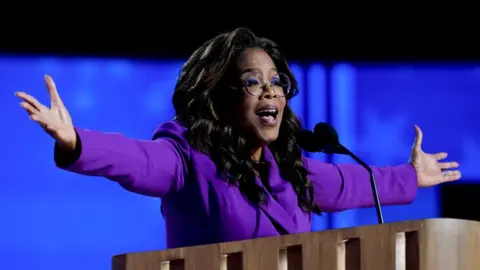
[[[330,164],[305,158],[315,203],[325,212],[374,206],[370,176],[355,164]],[[371,167],[383,205],[408,204],[415,199],[417,174],[411,164]]]

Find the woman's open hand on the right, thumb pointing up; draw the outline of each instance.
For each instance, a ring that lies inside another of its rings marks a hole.
[[[419,187],[431,187],[444,182],[458,180],[462,177],[458,162],[440,162],[447,157],[447,153],[428,154],[422,150],[423,133],[415,125],[416,137],[410,154],[410,163],[417,171]]]

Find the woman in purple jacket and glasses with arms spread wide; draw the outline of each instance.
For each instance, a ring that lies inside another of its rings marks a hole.
[[[51,107],[20,92],[21,106],[55,141],[56,164],[162,199],[168,248],[308,232],[312,213],[370,207],[368,173],[302,156],[287,104],[297,83],[278,46],[247,29],[202,45],[175,86],[175,119],[152,141],[72,125],[51,77]],[[374,168],[384,205],[410,203],[418,187],[460,178],[446,153]]]

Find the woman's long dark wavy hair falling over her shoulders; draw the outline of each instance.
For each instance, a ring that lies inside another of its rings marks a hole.
[[[254,161],[248,140],[235,128],[232,108],[239,102],[234,91],[229,91],[236,57],[246,48],[265,50],[277,70],[290,77],[290,100],[298,94],[297,82],[276,43],[256,37],[246,28],[214,37],[198,48],[183,65],[173,94],[175,119],[188,127],[189,143],[211,157],[230,184],[237,185],[252,203],[265,203],[266,191],[255,182]],[[239,91],[241,92],[241,91]],[[240,93],[243,94],[243,93]],[[230,102],[228,102],[230,101]],[[282,177],[289,181],[298,204],[306,212],[320,213],[313,203],[313,187],[296,142],[301,124],[287,105],[283,113],[278,139],[268,145],[280,168]]]

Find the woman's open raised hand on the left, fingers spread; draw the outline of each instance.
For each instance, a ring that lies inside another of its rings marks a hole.
[[[50,108],[27,93],[17,92],[15,95],[22,99],[20,106],[27,111],[31,120],[37,122],[63,150],[73,151],[77,144],[77,135],[72,118],[60,99],[52,77],[45,75],[45,84],[50,95]]]

